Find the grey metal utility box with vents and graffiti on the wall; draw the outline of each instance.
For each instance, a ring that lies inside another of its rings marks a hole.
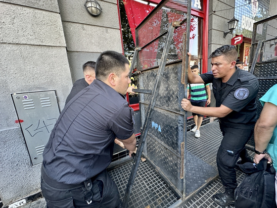
[[[56,93],[42,91],[11,95],[33,165],[43,161],[43,151],[60,111]]]

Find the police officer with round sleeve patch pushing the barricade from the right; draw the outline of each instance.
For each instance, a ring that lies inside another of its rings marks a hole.
[[[191,56],[188,53],[189,58]],[[213,83],[216,107],[196,107],[183,99],[182,107],[194,113],[219,117],[223,140],[217,153],[219,176],[225,192],[212,197],[220,206],[234,204],[234,190],[237,186],[235,163],[239,156],[241,163],[251,161],[245,144],[253,134],[257,119],[256,97],[258,93],[257,78],[247,71],[235,66],[237,51],[234,46],[218,48],[210,55],[211,72],[194,75],[188,69],[189,83]]]

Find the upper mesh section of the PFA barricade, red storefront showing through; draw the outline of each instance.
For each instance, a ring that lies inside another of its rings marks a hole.
[[[187,0],[165,0],[136,28],[139,71],[159,66],[169,24],[187,18]],[[175,29],[167,63],[182,60],[183,34],[186,22]]]

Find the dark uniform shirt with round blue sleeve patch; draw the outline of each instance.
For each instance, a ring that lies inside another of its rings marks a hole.
[[[221,78],[214,78],[212,72],[200,76],[206,84],[213,83],[216,107],[223,104],[233,110],[221,118],[225,125],[251,125],[256,122],[256,97],[259,83],[253,74],[236,67],[226,83],[222,83]]]

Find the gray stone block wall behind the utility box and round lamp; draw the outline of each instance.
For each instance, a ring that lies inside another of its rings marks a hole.
[[[0,198],[5,205],[40,191],[11,94],[56,90],[62,110],[82,64],[105,50],[122,52],[116,0],[100,1],[98,17],[85,0],[0,1]],[[48,139],[48,138],[47,138]]]

